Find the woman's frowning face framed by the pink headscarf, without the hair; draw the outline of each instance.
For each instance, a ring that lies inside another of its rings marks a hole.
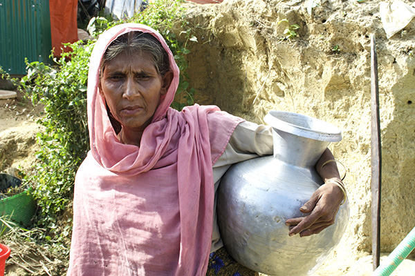
[[[160,95],[169,88],[169,75],[161,77],[145,53],[121,53],[104,67],[100,92],[124,130],[142,132],[156,112]]]

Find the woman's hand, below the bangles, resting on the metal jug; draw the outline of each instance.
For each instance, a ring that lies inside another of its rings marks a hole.
[[[306,217],[295,217],[286,220],[290,232],[293,236],[299,233],[300,237],[320,233],[324,228],[334,224],[335,215],[338,213],[340,204],[344,199],[342,190],[333,182],[326,181],[320,186],[310,200],[308,200],[299,210],[308,213]]]

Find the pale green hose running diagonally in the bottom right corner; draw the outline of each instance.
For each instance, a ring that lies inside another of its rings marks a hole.
[[[388,276],[399,266],[401,262],[411,253],[415,248],[415,227],[403,239],[392,253],[387,257],[385,262],[382,262],[371,276]]]

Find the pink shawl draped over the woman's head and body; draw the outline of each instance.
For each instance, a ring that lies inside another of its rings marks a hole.
[[[163,44],[174,72],[140,148],[120,143],[98,92],[102,55],[116,37],[133,30]],[[118,25],[95,43],[88,79],[91,151],[75,179],[68,275],[205,275],[212,165],[242,120],[215,106],[169,108],[178,79],[172,52],[147,26]]]

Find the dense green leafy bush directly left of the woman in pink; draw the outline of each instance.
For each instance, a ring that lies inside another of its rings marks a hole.
[[[35,174],[25,180],[35,186],[41,213],[37,225],[48,228],[44,238],[62,242],[59,221],[73,196],[75,172],[89,150],[86,124],[86,79],[92,43],[70,45],[73,52],[55,59],[57,66],[28,63],[28,75],[21,88],[33,103],[44,106],[45,116],[38,121],[44,128],[37,133],[40,146]],[[64,222],[64,224],[62,224]]]

